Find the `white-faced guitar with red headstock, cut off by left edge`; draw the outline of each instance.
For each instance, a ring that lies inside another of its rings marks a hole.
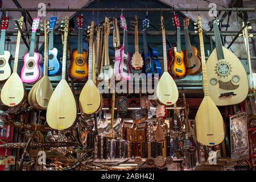
[[[9,64],[11,53],[5,51],[5,35],[9,26],[9,17],[4,17],[1,22],[1,39],[0,39],[0,81],[6,80],[11,75]]]

